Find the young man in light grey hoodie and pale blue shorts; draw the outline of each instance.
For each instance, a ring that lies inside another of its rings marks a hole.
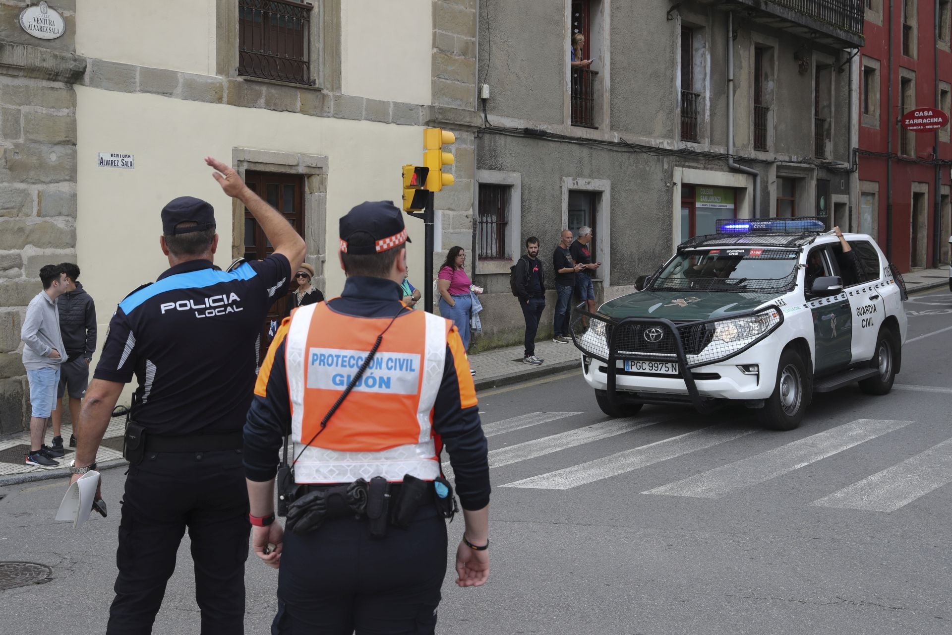
[[[66,277],[62,265],[47,265],[40,269],[43,290],[36,294],[27,307],[27,316],[20,329],[23,347],[23,366],[27,368],[30,382],[30,454],[29,466],[58,466],[53,461],[50,448],[43,440],[47,432],[47,419],[56,403],[56,387],[59,386],[60,364],[63,362],[63,336],[59,329],[59,311],[56,299],[74,287]],[[62,453],[59,456],[63,456]]]

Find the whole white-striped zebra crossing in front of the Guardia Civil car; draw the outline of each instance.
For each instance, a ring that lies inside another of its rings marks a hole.
[[[491,437],[527,427],[541,426],[579,414],[582,413],[532,412],[486,424],[484,430],[486,436]],[[638,419],[611,419],[583,427],[574,427],[529,441],[491,449],[489,466],[495,468],[522,463],[571,447],[585,446],[658,424],[671,423],[672,419],[670,414],[666,414]],[[641,493],[653,496],[720,498],[830,459],[844,450],[862,446],[868,441],[913,424],[915,424],[913,421],[857,419],[755,453],[744,459],[692,474],[684,479],[646,489]],[[504,483],[501,486],[513,489],[571,489],[695,452],[709,451],[711,448],[744,437],[749,437],[751,440],[770,438],[783,441],[783,435],[775,432],[717,424],[675,434],[660,441],[614,452],[577,465],[565,466]],[[444,463],[443,467],[447,478],[451,479],[453,473],[449,462]],[[949,483],[952,483],[952,438],[909,457],[897,465],[834,491],[809,505],[888,513]]]

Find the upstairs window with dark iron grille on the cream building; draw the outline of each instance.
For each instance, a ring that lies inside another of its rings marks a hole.
[[[238,74],[312,85],[312,9],[293,0],[238,0]]]

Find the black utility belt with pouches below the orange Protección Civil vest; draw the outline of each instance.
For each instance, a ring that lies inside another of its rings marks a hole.
[[[403,483],[388,483],[384,477],[375,476],[369,483],[357,479],[333,486],[298,485],[279,494],[279,507],[282,503],[287,507],[286,528],[296,534],[307,534],[328,520],[351,516],[367,517],[370,536],[383,538],[387,526],[409,526],[427,505],[434,506],[444,518],[451,519],[458,511],[452,486],[442,476],[436,481],[423,481],[406,474]],[[279,515],[285,515],[281,511]]]

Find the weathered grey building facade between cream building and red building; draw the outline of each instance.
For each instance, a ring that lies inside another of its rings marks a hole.
[[[480,0],[479,24],[479,346],[522,339],[507,278],[530,235],[552,288],[560,229],[594,228],[604,300],[717,218],[856,227],[863,0]]]

